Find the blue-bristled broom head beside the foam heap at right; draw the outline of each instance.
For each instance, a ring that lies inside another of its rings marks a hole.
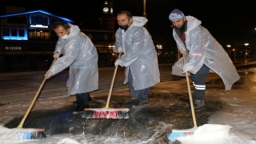
[[[194,131],[197,130],[197,126],[194,126],[192,129],[187,130],[172,130],[172,132],[168,135],[168,139],[174,141],[178,137],[185,136],[185,135],[192,135]]]

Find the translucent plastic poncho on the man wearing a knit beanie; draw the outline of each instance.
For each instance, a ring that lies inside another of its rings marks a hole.
[[[210,67],[211,72],[215,72],[222,78],[225,90],[230,90],[234,82],[240,78],[230,57],[210,32],[200,26],[201,21],[192,16],[186,16],[186,20],[186,46],[175,30],[173,35],[178,50],[181,53],[182,50],[186,51],[186,65],[193,67],[190,73],[196,74],[205,64]],[[185,76],[185,74],[182,74],[183,65],[183,58],[180,58],[172,67],[172,74]]]

